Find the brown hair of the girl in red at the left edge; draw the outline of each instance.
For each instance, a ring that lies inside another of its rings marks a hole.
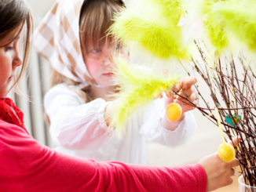
[[[26,40],[24,44],[24,57],[23,65],[20,70],[20,74],[13,83],[11,89],[16,87],[20,78],[24,74],[27,67],[27,60],[31,44],[31,32],[32,32],[32,16],[31,11],[27,7],[24,0],[0,0],[0,39],[5,38],[9,32],[13,31],[20,24],[26,26]],[[16,37],[13,38],[13,40]],[[12,41],[13,41],[12,40]]]

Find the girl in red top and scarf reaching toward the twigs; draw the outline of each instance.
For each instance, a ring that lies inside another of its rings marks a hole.
[[[1,0],[0,15],[1,191],[203,192],[232,183],[230,177],[238,161],[225,163],[217,154],[196,165],[168,168],[71,158],[39,144],[25,129],[22,112],[6,97],[26,67],[31,12],[24,0]],[[26,42],[20,42],[24,28]],[[23,61],[19,43],[24,44]],[[21,70],[15,79],[18,67]]]

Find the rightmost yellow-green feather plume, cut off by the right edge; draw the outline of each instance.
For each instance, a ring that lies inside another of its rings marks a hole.
[[[256,51],[256,1],[229,0],[216,3],[212,13],[225,25],[230,36],[236,37],[252,51]]]

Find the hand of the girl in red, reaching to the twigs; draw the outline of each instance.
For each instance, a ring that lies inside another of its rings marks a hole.
[[[240,142],[239,138],[232,140],[232,145],[236,146]],[[232,183],[231,176],[234,176],[234,167],[239,165],[239,161],[235,158],[227,163],[218,157],[218,154],[212,154],[199,161],[207,174],[207,191],[225,187]]]

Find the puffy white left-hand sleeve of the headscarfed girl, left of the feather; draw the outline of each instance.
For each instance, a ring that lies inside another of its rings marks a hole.
[[[57,85],[47,92],[44,104],[57,145],[93,150],[111,135],[104,121],[107,102],[103,99],[85,103],[67,85]]]

